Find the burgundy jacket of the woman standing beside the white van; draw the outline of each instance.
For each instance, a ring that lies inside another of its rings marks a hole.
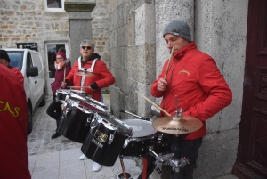
[[[66,68],[65,77],[67,77],[69,74],[69,71],[71,70],[70,61],[66,63],[63,69],[56,70],[54,82],[51,84],[51,89],[52,89],[53,94],[56,93],[57,89],[61,89],[61,83],[64,80],[64,68]]]

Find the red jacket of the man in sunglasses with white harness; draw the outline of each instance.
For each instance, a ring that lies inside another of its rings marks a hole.
[[[100,57],[99,55],[95,54],[96,53],[94,53],[94,56]],[[89,69],[91,68],[92,63],[93,59],[90,61],[86,61],[85,63],[82,63],[82,68]],[[79,72],[78,61],[74,63],[71,71],[69,72],[68,77],[66,77],[66,79],[69,80],[68,85],[81,86],[82,76],[78,76],[76,74],[77,72]],[[94,100],[101,102],[101,88],[108,87],[109,85],[114,84],[115,78],[107,68],[106,64],[100,59],[95,62],[93,68],[93,75],[94,75],[93,77],[85,77],[84,86],[92,85],[95,82],[96,85],[98,86],[98,89],[93,91],[89,88],[85,88],[85,93],[92,95],[92,98]],[[80,90],[80,88],[75,88],[75,89]]]

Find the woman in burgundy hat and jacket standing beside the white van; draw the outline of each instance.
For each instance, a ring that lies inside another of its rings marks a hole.
[[[61,102],[56,102],[56,91],[61,89],[61,82],[64,80],[64,75],[67,77],[69,71],[71,70],[70,61],[66,58],[66,50],[61,47],[56,53],[56,61],[54,62],[56,69],[54,82],[51,84],[51,89],[53,92],[53,102],[48,106],[46,113],[53,119],[56,120],[57,129],[59,127],[59,118],[61,117]],[[61,134],[56,132],[51,136],[52,139],[55,139]]]

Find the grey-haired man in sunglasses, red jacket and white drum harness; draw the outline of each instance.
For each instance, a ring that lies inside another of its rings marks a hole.
[[[82,88],[75,88],[76,90],[85,91],[90,94],[94,100],[101,102],[101,88],[108,87],[115,83],[115,78],[107,68],[106,64],[101,61],[101,56],[94,53],[94,45],[91,40],[84,40],[80,44],[81,57],[73,64],[69,75],[62,82],[61,87],[66,85],[84,86]],[[77,72],[93,73],[93,77],[85,77],[77,75]],[[86,86],[86,87],[85,87]],[[83,154],[80,159],[87,159]],[[93,171],[101,170],[101,165],[93,162]]]

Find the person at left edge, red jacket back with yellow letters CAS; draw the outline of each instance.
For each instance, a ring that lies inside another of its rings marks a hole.
[[[30,179],[24,87],[19,77],[3,65],[0,65],[0,81],[0,178]]]

